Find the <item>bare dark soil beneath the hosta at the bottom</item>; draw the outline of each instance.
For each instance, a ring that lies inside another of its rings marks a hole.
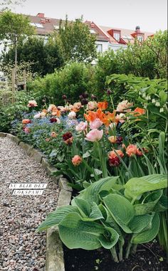
[[[65,271],[166,271],[166,254],[157,242],[139,245],[136,255],[129,260],[116,263],[110,251],[64,249]]]

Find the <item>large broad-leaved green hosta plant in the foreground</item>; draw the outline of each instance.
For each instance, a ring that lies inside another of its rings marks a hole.
[[[164,211],[163,195],[167,178],[152,174],[132,178],[124,186],[117,176],[100,179],[73,198],[71,206],[57,208],[37,231],[58,225],[62,242],[70,249],[110,250],[119,262],[137,245],[153,240],[159,231],[159,212]]]

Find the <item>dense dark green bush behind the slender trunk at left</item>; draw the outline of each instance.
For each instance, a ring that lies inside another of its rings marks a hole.
[[[48,41],[43,38],[29,37],[26,41],[20,41],[17,47],[18,65],[20,63],[30,63],[31,72],[38,75],[53,73],[55,68],[61,68],[64,64],[63,53],[58,43]],[[6,71],[6,65],[14,63],[14,48],[1,55],[2,70]]]

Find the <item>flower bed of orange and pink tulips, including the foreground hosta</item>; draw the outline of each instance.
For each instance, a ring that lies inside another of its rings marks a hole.
[[[157,236],[167,248],[167,107],[159,110],[159,127],[150,102],[122,100],[115,107],[111,90],[107,95],[110,102],[88,102],[83,93],[73,105],[63,97],[64,106],[29,112],[13,131],[41,149],[77,195],[38,230],[58,225],[68,248],[105,248],[121,262]]]

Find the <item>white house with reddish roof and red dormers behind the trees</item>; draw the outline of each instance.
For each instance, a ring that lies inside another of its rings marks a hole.
[[[60,19],[47,18],[45,14],[38,13],[36,16],[28,16],[31,25],[36,27],[36,33],[47,40],[48,34],[54,30],[59,29]],[[65,21],[63,21],[64,23]],[[135,28],[135,31],[122,28],[112,28],[110,26],[98,26],[93,21],[84,22],[90,29],[90,33],[96,36],[95,44],[97,51],[103,53],[109,48],[116,51],[120,48],[127,48],[128,43],[134,43],[137,38],[138,41],[145,41],[154,33],[140,31],[140,26]]]

